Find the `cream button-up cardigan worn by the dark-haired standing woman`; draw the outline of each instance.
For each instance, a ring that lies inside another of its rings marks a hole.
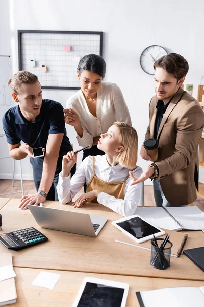
[[[120,88],[115,83],[102,82],[97,92],[96,116],[93,116],[87,106],[82,91],[78,91],[67,100],[67,108],[73,109],[80,117],[83,137],[77,136],[80,146],[92,146],[93,137],[106,133],[115,121],[129,125],[131,117]]]

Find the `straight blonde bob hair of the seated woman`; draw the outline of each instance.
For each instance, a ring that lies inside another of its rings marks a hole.
[[[133,169],[137,163],[138,137],[136,130],[129,124],[115,122],[114,125],[119,130],[119,140],[124,150],[116,158],[116,162],[121,166]]]

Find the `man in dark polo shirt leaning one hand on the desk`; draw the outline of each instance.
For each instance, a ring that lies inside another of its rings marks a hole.
[[[58,200],[56,186],[62,169],[62,157],[72,150],[66,136],[63,107],[60,103],[42,99],[38,77],[27,71],[16,73],[8,82],[12,97],[18,105],[3,117],[9,153],[20,160],[27,155],[33,167],[36,194],[24,195],[20,208]],[[24,142],[21,144],[21,141]],[[34,158],[33,148],[43,147],[45,156]],[[73,170],[72,174],[75,172]]]

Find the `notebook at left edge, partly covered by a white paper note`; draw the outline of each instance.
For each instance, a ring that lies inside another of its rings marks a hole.
[[[3,267],[8,265],[13,267],[11,253],[1,254],[0,266]],[[15,303],[16,297],[17,295],[14,277],[0,281],[0,306]]]

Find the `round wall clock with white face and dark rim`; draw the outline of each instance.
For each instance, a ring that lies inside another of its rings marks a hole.
[[[143,71],[149,75],[154,75],[154,62],[163,55],[167,55],[167,51],[159,45],[151,45],[143,50],[140,56],[140,65]]]

